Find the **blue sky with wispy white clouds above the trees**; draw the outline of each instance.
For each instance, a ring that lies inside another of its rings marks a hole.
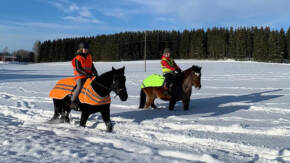
[[[36,40],[125,31],[270,26],[288,29],[290,0],[1,0],[0,51]]]

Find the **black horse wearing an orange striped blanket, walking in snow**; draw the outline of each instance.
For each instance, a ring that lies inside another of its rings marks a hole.
[[[114,67],[112,67],[112,71],[105,72],[99,77],[93,77],[92,79],[90,79],[89,83],[87,83],[89,80],[87,79],[79,95],[80,102],[78,104],[77,111],[81,111],[80,126],[85,127],[89,116],[93,113],[100,112],[102,115],[102,119],[106,124],[107,131],[112,132],[113,124],[110,120],[110,92],[115,92],[116,96],[119,96],[121,101],[127,100],[128,94],[125,84],[126,77],[124,75],[124,72],[125,67],[120,69],[115,69]],[[70,79],[74,81],[73,78]],[[61,83],[60,81],[58,83]],[[69,114],[71,112],[70,98],[73,87],[75,86],[75,82],[72,85],[58,83],[50,92],[50,97],[53,98],[54,115],[51,120],[49,120],[49,122],[69,123]],[[85,85],[91,86],[91,89],[88,90],[88,88],[85,88]],[[66,91],[63,95],[64,97],[58,97],[61,94],[59,93],[59,91]],[[98,101],[98,99],[94,99],[96,97],[103,100]],[[93,102],[98,102],[98,104],[95,104]]]

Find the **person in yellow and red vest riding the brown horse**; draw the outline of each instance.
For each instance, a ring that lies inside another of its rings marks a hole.
[[[174,73],[181,72],[181,69],[175,63],[174,59],[171,57],[169,48],[165,48],[163,50],[163,55],[161,58],[161,68],[162,68],[163,76],[165,77],[164,89],[165,89],[165,91],[167,91],[168,88],[171,87],[172,80],[174,78]],[[168,92],[166,92],[166,93],[168,94]]]

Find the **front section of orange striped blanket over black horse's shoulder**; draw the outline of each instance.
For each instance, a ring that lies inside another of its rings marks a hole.
[[[94,79],[94,78],[93,78]],[[79,100],[81,103],[86,103],[90,105],[104,105],[111,103],[110,95],[106,97],[101,97],[95,90],[92,88],[93,79],[87,79],[86,83],[83,86],[83,89],[79,95]]]

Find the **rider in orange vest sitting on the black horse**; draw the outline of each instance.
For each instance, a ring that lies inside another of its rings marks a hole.
[[[82,42],[79,44],[79,49],[77,54],[72,60],[72,66],[74,68],[74,75],[77,82],[77,86],[74,89],[71,97],[70,107],[72,109],[77,109],[76,99],[80,94],[82,87],[87,80],[92,76],[98,77],[98,72],[93,64],[93,58],[90,53],[88,53],[89,45],[88,43]]]

